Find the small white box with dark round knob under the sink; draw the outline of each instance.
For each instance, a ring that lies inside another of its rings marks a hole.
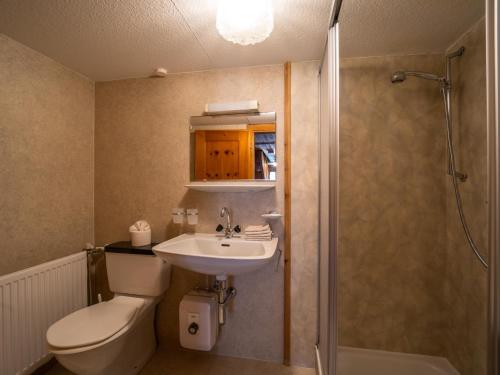
[[[179,305],[181,346],[209,351],[217,341],[219,323],[217,297],[214,294],[187,294]]]

